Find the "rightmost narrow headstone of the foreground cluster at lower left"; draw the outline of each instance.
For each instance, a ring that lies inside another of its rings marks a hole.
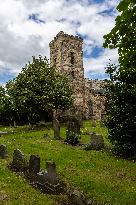
[[[48,183],[51,185],[58,184],[58,177],[56,173],[56,164],[53,161],[46,162]]]

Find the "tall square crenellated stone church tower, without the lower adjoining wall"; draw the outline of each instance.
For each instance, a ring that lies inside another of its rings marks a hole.
[[[83,115],[85,108],[85,81],[83,68],[83,39],[59,32],[50,42],[50,63],[60,73],[69,75],[74,87],[75,107]]]

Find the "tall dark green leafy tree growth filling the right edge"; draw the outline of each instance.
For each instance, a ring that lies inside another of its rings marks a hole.
[[[109,139],[125,157],[136,155],[136,4],[122,0],[116,25],[104,36],[106,48],[118,48],[119,65],[109,63],[106,72]]]

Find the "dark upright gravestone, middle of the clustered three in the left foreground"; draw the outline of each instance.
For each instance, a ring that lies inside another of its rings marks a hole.
[[[38,155],[31,155],[29,159],[29,172],[37,174],[40,171],[40,157]]]

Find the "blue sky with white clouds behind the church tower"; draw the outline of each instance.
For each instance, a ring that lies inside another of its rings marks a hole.
[[[59,31],[84,39],[85,77],[104,79],[117,50],[103,49],[115,25],[119,0],[4,0],[0,5],[0,85],[14,78],[32,56],[47,56]]]

